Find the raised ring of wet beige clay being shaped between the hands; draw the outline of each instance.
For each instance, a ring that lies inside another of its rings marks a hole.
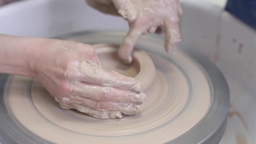
[[[123,64],[118,58],[118,45],[97,44],[93,45],[93,47],[100,58],[101,63],[103,63],[103,67],[105,68],[107,65],[107,70],[113,70],[116,69],[114,68],[115,66],[122,65],[119,67],[119,69],[122,70],[117,72],[134,77],[137,81],[141,82],[142,91],[146,91],[152,85],[156,73],[155,65],[146,52],[135,49],[132,53],[132,64]],[[108,63],[110,63],[110,65],[105,64],[106,61],[109,61]]]

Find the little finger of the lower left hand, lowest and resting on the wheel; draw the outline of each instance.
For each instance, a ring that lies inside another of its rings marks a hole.
[[[99,119],[108,119],[108,118],[121,118],[123,117],[120,111],[106,111],[106,110],[94,110],[90,107],[80,105],[80,104],[73,104],[68,105],[64,103],[59,103],[59,106],[62,109],[75,109],[79,112],[86,113],[89,116],[99,118]]]

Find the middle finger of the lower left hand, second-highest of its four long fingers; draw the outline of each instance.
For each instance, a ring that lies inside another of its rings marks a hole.
[[[123,103],[142,104],[146,98],[146,94],[132,91],[123,91],[113,87],[102,87],[98,85],[88,85],[80,83],[80,85],[72,88],[72,95],[93,99],[96,101],[112,101]]]

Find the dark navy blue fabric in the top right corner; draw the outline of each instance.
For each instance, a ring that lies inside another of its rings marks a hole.
[[[225,9],[256,29],[256,0],[228,0]]]

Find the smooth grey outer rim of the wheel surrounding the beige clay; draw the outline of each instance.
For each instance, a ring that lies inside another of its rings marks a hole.
[[[123,37],[125,34],[125,32],[119,31],[80,32],[68,34],[59,38],[66,39],[85,34],[108,34],[109,37],[111,37],[112,33],[117,35],[117,32],[120,34],[119,37]],[[145,39],[163,41],[160,37],[155,37],[154,35],[149,35]],[[193,129],[187,131],[187,133],[167,143],[218,143],[224,134],[228,118],[230,104],[228,84],[220,70],[208,58],[194,50],[185,49],[185,52],[188,53],[188,55],[191,56],[203,70],[205,70],[205,75],[208,78],[208,81],[212,84],[213,97],[211,98],[211,107],[206,116],[202,118],[201,122],[195,125]],[[0,74],[0,143],[50,143],[22,127],[19,123],[14,121],[9,114],[8,107],[3,100],[4,86],[7,78],[7,74]]]

